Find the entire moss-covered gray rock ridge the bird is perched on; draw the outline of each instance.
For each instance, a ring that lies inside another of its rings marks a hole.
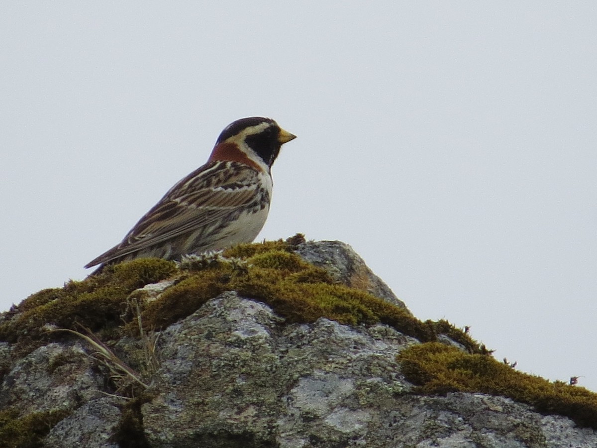
[[[0,446],[597,446],[595,394],[301,235],[33,294],[0,315],[0,380]]]

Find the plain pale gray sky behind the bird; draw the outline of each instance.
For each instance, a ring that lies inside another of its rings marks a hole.
[[[229,122],[297,134],[259,238],[597,391],[597,4],[3,2],[0,309],[82,279]]]

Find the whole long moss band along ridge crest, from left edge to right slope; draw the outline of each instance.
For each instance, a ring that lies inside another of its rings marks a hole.
[[[99,275],[70,281],[61,289],[40,291],[11,310],[0,324],[0,340],[17,343],[17,354],[31,351],[52,337],[50,326],[81,330],[100,339],[118,339],[124,332],[138,333],[136,315],[127,310],[132,291],[147,283],[177,276],[179,283],[146,303],[143,294],[141,321],[147,330],[164,329],[187,317],[223,291],[261,300],[288,322],[308,323],[325,317],[342,324],[388,324],[421,341],[448,333],[470,352],[478,344],[445,321],[421,322],[408,310],[398,308],[362,290],[334,282],[327,271],[310,265],[293,252],[304,241],[296,235],[286,241],[240,244],[223,256],[199,256],[183,262],[184,269],[160,259],[139,259],[106,266]],[[124,324],[124,329],[123,329]]]

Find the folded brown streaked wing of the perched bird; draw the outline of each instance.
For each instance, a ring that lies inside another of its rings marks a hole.
[[[180,180],[128,232],[87,266],[109,262],[224,219],[256,200],[259,172],[238,162],[210,162]]]

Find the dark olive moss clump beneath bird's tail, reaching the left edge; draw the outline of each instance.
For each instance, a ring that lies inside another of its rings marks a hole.
[[[0,340],[18,342],[30,351],[47,339],[44,326],[91,330],[118,326],[131,291],[170,277],[176,264],[161,259],[139,259],[107,266],[99,275],[70,281],[63,288],[39,291],[11,309],[0,324]]]

